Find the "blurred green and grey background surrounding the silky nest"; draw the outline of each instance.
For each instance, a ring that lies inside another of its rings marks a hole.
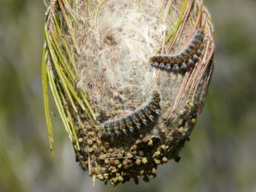
[[[206,5],[216,64],[182,160],[161,165],[149,183],[113,188],[96,181],[93,188],[58,115],[50,158],[41,85],[45,5],[0,0],[0,191],[256,191],[256,1]]]

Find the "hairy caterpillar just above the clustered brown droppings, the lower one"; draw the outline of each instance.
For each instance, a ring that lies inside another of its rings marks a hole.
[[[108,120],[103,124],[104,133],[103,140],[114,140],[114,138],[124,134],[132,134],[134,131],[141,131],[142,127],[147,127],[151,123],[155,123],[160,115],[160,94],[154,91],[151,100],[135,112],[125,117]]]

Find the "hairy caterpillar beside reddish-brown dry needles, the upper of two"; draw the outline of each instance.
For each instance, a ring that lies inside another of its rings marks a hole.
[[[187,72],[197,61],[202,52],[203,30],[197,29],[188,46],[174,55],[157,55],[150,58],[151,66],[168,72]]]

